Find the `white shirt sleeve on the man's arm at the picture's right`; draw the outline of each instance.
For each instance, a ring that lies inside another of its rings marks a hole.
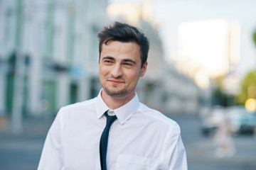
[[[186,151],[181,140],[181,129],[174,125],[166,135],[162,154],[162,170],[187,170]]]

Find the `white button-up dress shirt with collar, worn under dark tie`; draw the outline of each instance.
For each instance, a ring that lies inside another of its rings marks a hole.
[[[110,110],[100,94],[60,108],[51,125],[38,169],[100,170],[100,137]],[[148,108],[136,96],[110,115],[108,170],[187,169],[181,130],[174,120]]]

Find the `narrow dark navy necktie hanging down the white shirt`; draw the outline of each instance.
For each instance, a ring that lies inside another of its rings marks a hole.
[[[102,132],[102,136],[100,137],[100,166],[102,170],[107,170],[107,163],[106,163],[106,157],[107,157],[107,140],[108,135],[110,132],[110,126],[116,120],[116,115],[107,115],[107,111],[104,113],[104,115],[107,118],[107,124],[105,126],[105,129]]]

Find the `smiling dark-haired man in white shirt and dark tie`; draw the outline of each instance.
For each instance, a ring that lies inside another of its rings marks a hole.
[[[118,22],[98,37],[102,90],[60,108],[38,169],[187,169],[177,123],[139,103],[135,92],[146,72],[147,38]]]

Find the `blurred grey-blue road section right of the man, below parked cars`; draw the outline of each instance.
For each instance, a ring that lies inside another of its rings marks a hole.
[[[256,138],[250,135],[232,137],[235,153],[218,157],[214,137],[203,137],[197,117],[173,117],[181,127],[186,147],[188,169],[191,170],[252,170],[256,169]]]

